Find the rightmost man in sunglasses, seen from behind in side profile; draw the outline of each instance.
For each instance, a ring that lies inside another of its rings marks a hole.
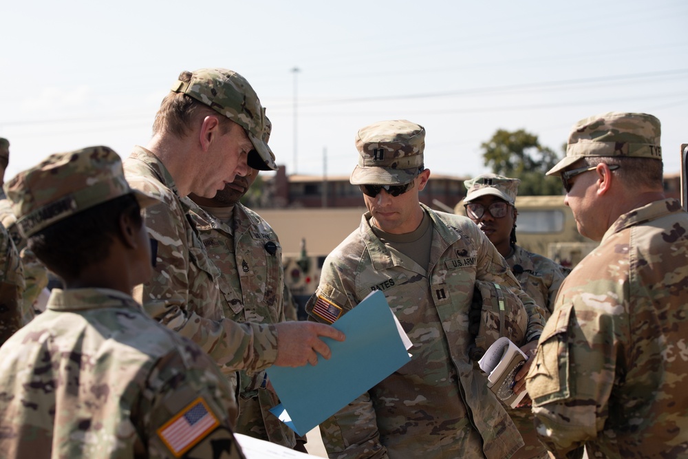
[[[659,120],[612,112],[574,125],[548,171],[601,242],[563,281],[526,378],[557,457],[688,457],[688,214],[662,169]]]

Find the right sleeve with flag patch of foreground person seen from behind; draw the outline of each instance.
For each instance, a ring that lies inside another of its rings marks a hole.
[[[180,352],[188,355],[182,359]],[[191,346],[171,352],[148,384],[132,416],[142,420],[147,457],[244,458],[231,428],[237,409],[230,388],[205,354]]]

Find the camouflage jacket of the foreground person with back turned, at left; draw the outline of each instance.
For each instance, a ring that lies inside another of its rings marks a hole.
[[[0,391],[3,458],[244,457],[213,361],[116,290],[54,289],[0,348]]]

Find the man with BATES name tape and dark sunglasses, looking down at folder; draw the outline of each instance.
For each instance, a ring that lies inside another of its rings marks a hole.
[[[361,186],[368,212],[325,259],[306,305],[311,319],[330,323],[382,290],[413,342],[411,362],[321,423],[330,458],[505,459],[523,446],[469,359],[475,282],[493,281],[518,295],[531,347],[542,312],[473,222],[420,204],[430,176],[424,136],[407,120],[358,131],[350,182]]]

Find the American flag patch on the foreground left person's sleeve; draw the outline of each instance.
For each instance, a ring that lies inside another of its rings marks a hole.
[[[203,397],[199,397],[160,427],[158,436],[172,451],[174,457],[179,458],[218,425],[219,420],[208,408]]]

